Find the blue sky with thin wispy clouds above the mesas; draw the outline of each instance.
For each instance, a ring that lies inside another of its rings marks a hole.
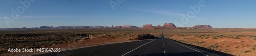
[[[214,28],[256,28],[256,1],[248,0],[202,0],[205,7],[195,13],[189,6],[199,5],[201,0],[36,0],[30,2],[19,17],[13,19],[12,10],[24,7],[20,0],[0,1],[0,28],[40,26],[111,26],[164,23],[181,23],[182,27],[211,25]],[[21,0],[24,1],[24,0]],[[26,4],[27,5],[27,4]],[[20,10],[21,11],[21,10]],[[19,11],[19,12],[20,12]],[[193,18],[182,23],[182,14],[194,12]],[[6,23],[4,17],[13,22]],[[9,24],[9,26],[8,26]],[[177,24],[175,24],[177,25]]]

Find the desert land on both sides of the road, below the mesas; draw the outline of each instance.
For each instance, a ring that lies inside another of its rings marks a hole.
[[[232,55],[253,55],[255,28],[168,29],[165,38]],[[1,55],[34,54],[7,52],[7,48],[62,48],[129,42],[160,37],[161,29],[49,29],[1,31]],[[68,45],[68,46],[67,46]]]

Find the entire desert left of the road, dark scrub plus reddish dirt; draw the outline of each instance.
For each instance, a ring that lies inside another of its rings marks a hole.
[[[146,29],[50,29],[1,31],[1,55],[29,52],[7,52],[8,48],[81,48],[85,46],[153,39]],[[150,31],[159,36],[160,30]],[[71,45],[70,45],[71,44]],[[70,46],[67,46],[70,45]],[[5,54],[6,53],[6,54]],[[33,54],[30,52],[30,54]]]

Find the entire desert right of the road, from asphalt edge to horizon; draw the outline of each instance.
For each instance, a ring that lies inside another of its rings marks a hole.
[[[183,29],[166,33],[173,35],[170,39],[233,55],[253,55],[256,52],[256,29]]]

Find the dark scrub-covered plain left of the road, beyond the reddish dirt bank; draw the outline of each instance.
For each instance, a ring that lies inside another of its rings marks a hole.
[[[8,48],[40,48],[59,44],[68,44],[98,37],[134,37],[130,40],[140,40],[149,39],[145,36],[151,36],[152,38],[154,36],[159,36],[159,34],[161,34],[160,30],[149,31],[145,29],[51,29],[0,31],[0,54],[7,53]],[[88,35],[90,36],[88,37]]]

